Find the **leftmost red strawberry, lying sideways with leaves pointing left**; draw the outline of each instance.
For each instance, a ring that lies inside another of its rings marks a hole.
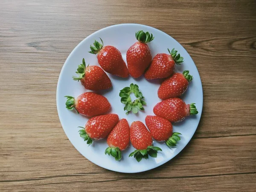
[[[111,108],[108,99],[105,96],[98,95],[93,92],[86,92],[75,99],[72,96],[67,97],[66,108],[68,110],[76,110],[84,116],[96,116],[107,113]]]

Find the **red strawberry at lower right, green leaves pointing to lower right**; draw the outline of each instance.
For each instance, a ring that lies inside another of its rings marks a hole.
[[[151,136],[156,141],[166,141],[168,147],[176,146],[180,133],[172,133],[172,123],[159,116],[148,115],[145,118]]]

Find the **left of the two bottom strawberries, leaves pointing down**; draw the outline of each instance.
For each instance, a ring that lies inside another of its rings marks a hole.
[[[126,119],[121,119],[112,129],[107,138],[108,148],[105,154],[112,155],[117,161],[122,158],[121,151],[125,150],[130,141],[130,127]]]

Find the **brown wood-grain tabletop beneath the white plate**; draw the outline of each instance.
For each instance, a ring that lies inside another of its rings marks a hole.
[[[204,89],[184,150],[151,171],[94,165],[56,110],[67,56],[91,33],[141,23],[189,52]],[[256,191],[256,1],[1,0],[0,191]]]

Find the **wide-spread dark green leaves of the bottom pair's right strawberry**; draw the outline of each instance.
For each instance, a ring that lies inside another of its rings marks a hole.
[[[129,154],[129,157],[134,156],[134,158],[140,162],[143,158],[148,159],[148,155],[151,157],[157,157],[157,151],[162,151],[162,149],[159,147],[148,146],[146,149],[133,151],[131,154]]]

